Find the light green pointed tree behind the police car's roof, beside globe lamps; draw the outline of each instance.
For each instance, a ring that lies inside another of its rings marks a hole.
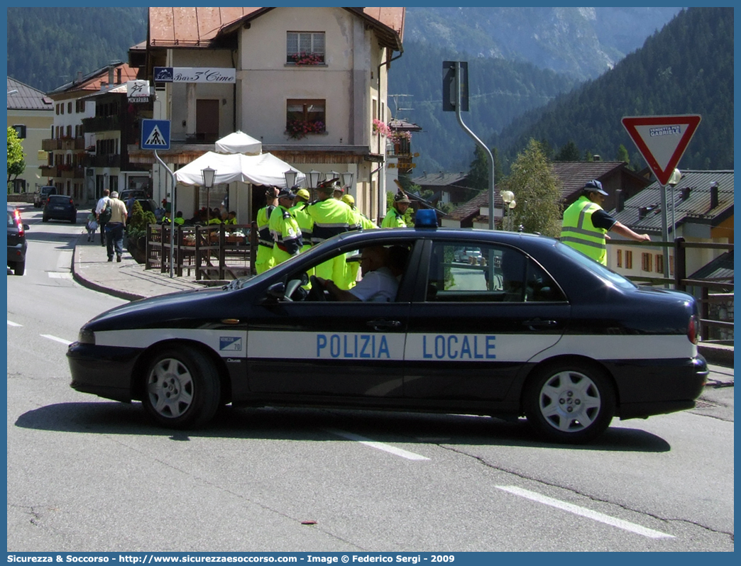
[[[561,233],[561,190],[558,177],[539,142],[531,139],[516,157],[510,176],[502,182],[514,193],[516,207],[511,211],[515,226],[525,232],[556,237]]]

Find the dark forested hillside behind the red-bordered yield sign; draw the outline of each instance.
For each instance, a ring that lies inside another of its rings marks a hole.
[[[526,113],[488,142],[505,164],[531,138],[547,141],[554,150],[571,141],[580,152],[602,159],[615,159],[623,144],[631,164],[644,167],[622,116],[700,114],[702,122],[679,169],[732,169],[733,94],[733,8],[689,8],[613,70]]]

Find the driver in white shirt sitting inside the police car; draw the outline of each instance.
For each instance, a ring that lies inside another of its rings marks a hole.
[[[389,267],[388,249],[365,247],[360,256],[363,278],[350,290],[337,287],[331,279],[319,279],[336,301],[393,302],[399,290],[399,279]]]

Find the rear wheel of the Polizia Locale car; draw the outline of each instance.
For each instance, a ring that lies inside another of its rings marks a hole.
[[[578,362],[539,370],[525,387],[528,423],[546,439],[590,442],[610,425],[615,392],[602,370]]]

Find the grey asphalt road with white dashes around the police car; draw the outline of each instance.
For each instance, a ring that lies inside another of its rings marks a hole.
[[[734,550],[732,370],[697,409],[616,420],[586,447],[342,410],[162,430],[70,389],[66,344],[122,300],[71,279],[81,224],[26,222],[27,274],[7,277],[9,551]]]

